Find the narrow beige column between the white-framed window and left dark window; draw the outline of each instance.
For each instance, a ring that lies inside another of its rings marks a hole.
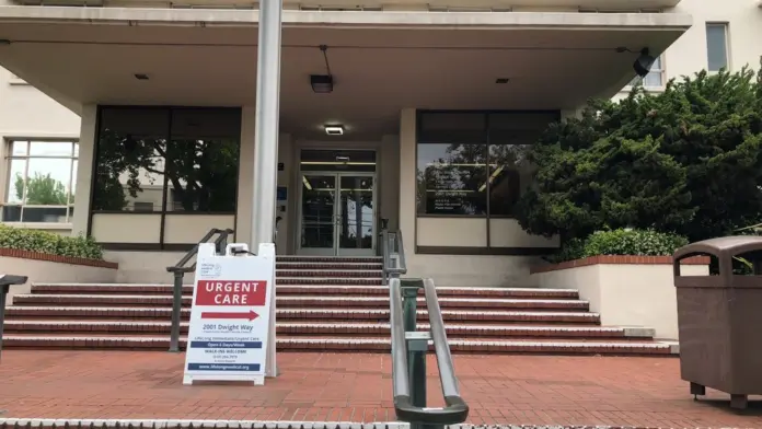
[[[77,166],[77,187],[74,188],[74,216],[71,221],[71,235],[86,234],[90,221],[90,194],[92,193],[93,158],[97,138],[97,106],[82,106],[79,138],[79,162]]]

